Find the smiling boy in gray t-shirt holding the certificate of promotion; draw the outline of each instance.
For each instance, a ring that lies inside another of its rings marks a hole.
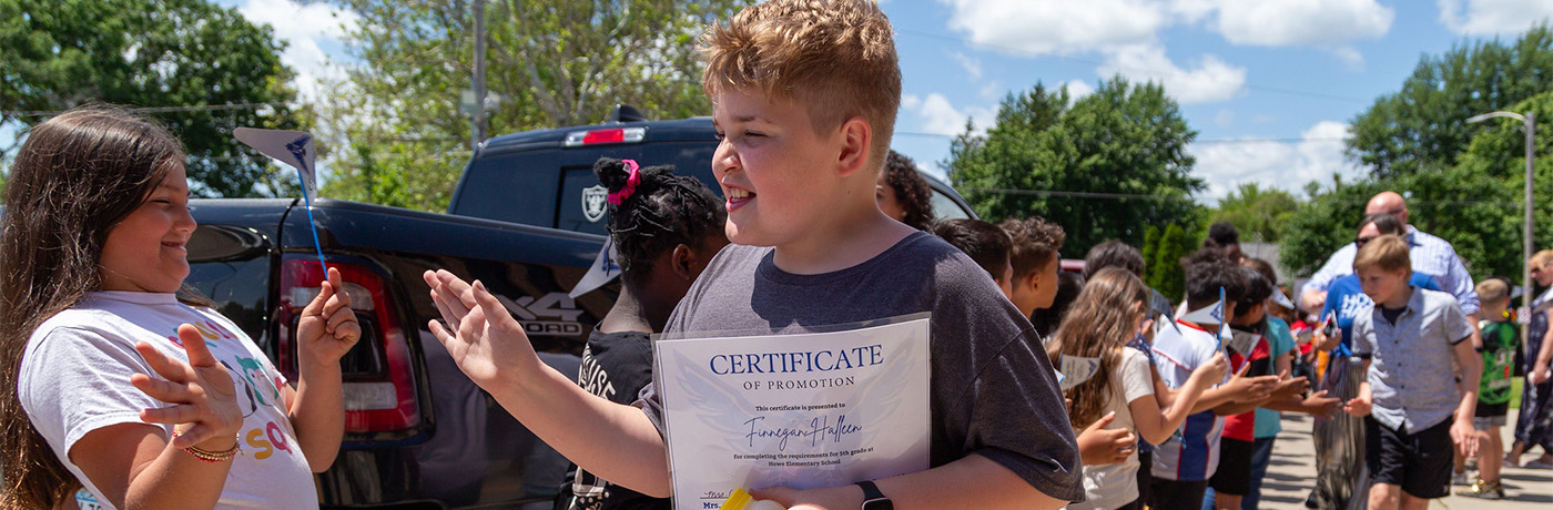
[[[856,485],[756,490],[795,508],[1058,508],[1084,498],[1054,370],[1033,326],[969,257],[879,211],[874,183],[901,99],[891,28],[865,0],[775,0],[707,34],[722,143],[719,253],[666,333],[809,332],[932,313],[930,468]],[[641,409],[547,369],[480,282],[427,273],[458,366],[579,467],[669,496],[662,398]],[[644,412],[643,412],[644,411]]]

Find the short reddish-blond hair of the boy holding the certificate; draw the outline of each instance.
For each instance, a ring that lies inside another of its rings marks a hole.
[[[862,116],[873,130],[871,169],[884,167],[901,65],[890,20],[873,0],[772,0],[707,29],[702,54],[708,96],[759,90],[801,104],[823,133]]]

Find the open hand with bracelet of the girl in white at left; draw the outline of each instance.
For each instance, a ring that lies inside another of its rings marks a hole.
[[[179,343],[189,363],[168,357],[148,343],[135,343],[135,350],[163,380],[146,374],[129,377],[140,391],[171,406],[141,409],[146,423],[186,425],[180,426],[174,448],[200,446],[210,451],[225,451],[238,440],[242,428],[242,409],[238,408],[238,392],[231,374],[205,347],[205,336],[191,324],[179,326]]]

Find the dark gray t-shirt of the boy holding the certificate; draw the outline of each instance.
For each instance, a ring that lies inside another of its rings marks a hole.
[[[1082,501],[1078,443],[1041,338],[997,284],[943,239],[915,233],[834,273],[776,268],[772,248],[728,245],[674,308],[666,335],[803,333],[932,313],[932,459],[991,459],[1042,493]],[[638,401],[658,429],[652,386]]]

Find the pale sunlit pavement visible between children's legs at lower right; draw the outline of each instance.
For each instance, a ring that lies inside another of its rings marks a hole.
[[[1261,508],[1303,510],[1305,496],[1311,493],[1315,481],[1315,445],[1311,442],[1309,415],[1286,412],[1283,415],[1283,432],[1273,443],[1272,462],[1267,465],[1267,477],[1263,479]],[[1510,414],[1511,426],[1500,428],[1505,432],[1505,448],[1510,448],[1514,432],[1516,414]],[[1541,453],[1541,450],[1539,450]],[[1523,459],[1531,460],[1528,454]],[[1519,508],[1553,508],[1553,470],[1505,468],[1500,474],[1505,482],[1502,501],[1485,501],[1474,498],[1449,496],[1435,499],[1429,508],[1483,508],[1483,510],[1519,510]],[[1455,487],[1452,487],[1452,491]]]

